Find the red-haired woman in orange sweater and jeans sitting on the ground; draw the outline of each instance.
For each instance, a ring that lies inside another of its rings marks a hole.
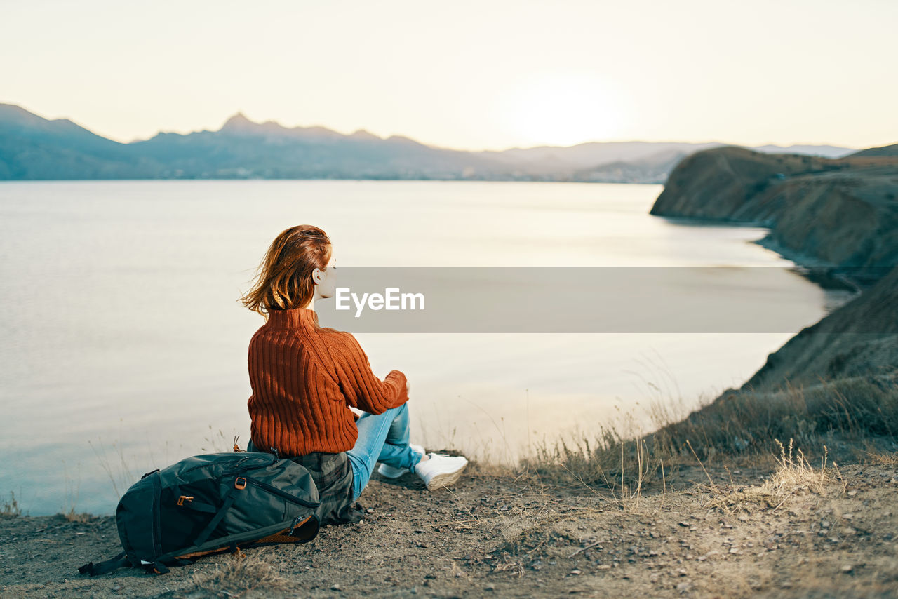
[[[405,374],[392,370],[380,380],[355,337],[318,326],[315,302],[335,293],[334,262],[320,228],[291,227],[271,243],[240,299],[266,317],[250,341],[248,449],[289,457],[311,471],[321,524],[361,518],[352,504],[375,462],[383,476],[414,472],[430,490],[453,484],[468,463],[409,445]]]

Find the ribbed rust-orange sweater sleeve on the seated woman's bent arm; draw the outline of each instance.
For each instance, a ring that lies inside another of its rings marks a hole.
[[[381,381],[371,369],[365,350],[345,331],[329,336],[340,391],[349,405],[372,414],[383,414],[409,401],[405,374],[391,370]]]

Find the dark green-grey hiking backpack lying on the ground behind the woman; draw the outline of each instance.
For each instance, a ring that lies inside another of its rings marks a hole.
[[[78,571],[96,576],[130,566],[163,574],[212,553],[310,542],[320,505],[310,472],[277,454],[194,455],[132,485],[115,514],[124,551]]]

